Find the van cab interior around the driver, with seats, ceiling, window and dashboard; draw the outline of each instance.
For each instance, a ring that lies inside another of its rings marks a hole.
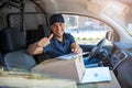
[[[131,0],[1,0],[0,66],[4,70],[30,72],[48,54],[29,55],[26,47],[47,37],[50,16],[61,13],[65,32],[70,33],[88,59],[109,67],[121,88],[132,87]],[[29,63],[30,62],[30,63]]]

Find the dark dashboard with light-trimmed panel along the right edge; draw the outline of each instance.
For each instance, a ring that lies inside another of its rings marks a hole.
[[[117,42],[113,48],[110,63],[121,88],[132,88],[132,44]]]

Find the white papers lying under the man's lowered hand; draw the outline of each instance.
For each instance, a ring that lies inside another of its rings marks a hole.
[[[70,58],[76,58],[78,56],[81,56],[81,55],[85,55],[85,54],[88,54],[89,52],[85,52],[85,53],[80,53],[80,54],[66,54],[66,55],[63,55],[63,56],[58,56],[56,58],[59,58],[59,59],[70,59]]]

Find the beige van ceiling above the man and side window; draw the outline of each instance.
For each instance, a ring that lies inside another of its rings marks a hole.
[[[132,0],[34,0],[48,13],[77,13],[96,18],[105,15],[125,26],[132,22]]]

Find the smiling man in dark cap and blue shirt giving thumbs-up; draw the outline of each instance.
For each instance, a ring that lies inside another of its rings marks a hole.
[[[64,22],[62,14],[53,14],[50,18],[51,35],[31,44],[28,47],[28,53],[31,55],[48,53],[51,57],[57,57],[69,53],[82,53],[82,50],[75,42],[74,36],[64,32]]]

